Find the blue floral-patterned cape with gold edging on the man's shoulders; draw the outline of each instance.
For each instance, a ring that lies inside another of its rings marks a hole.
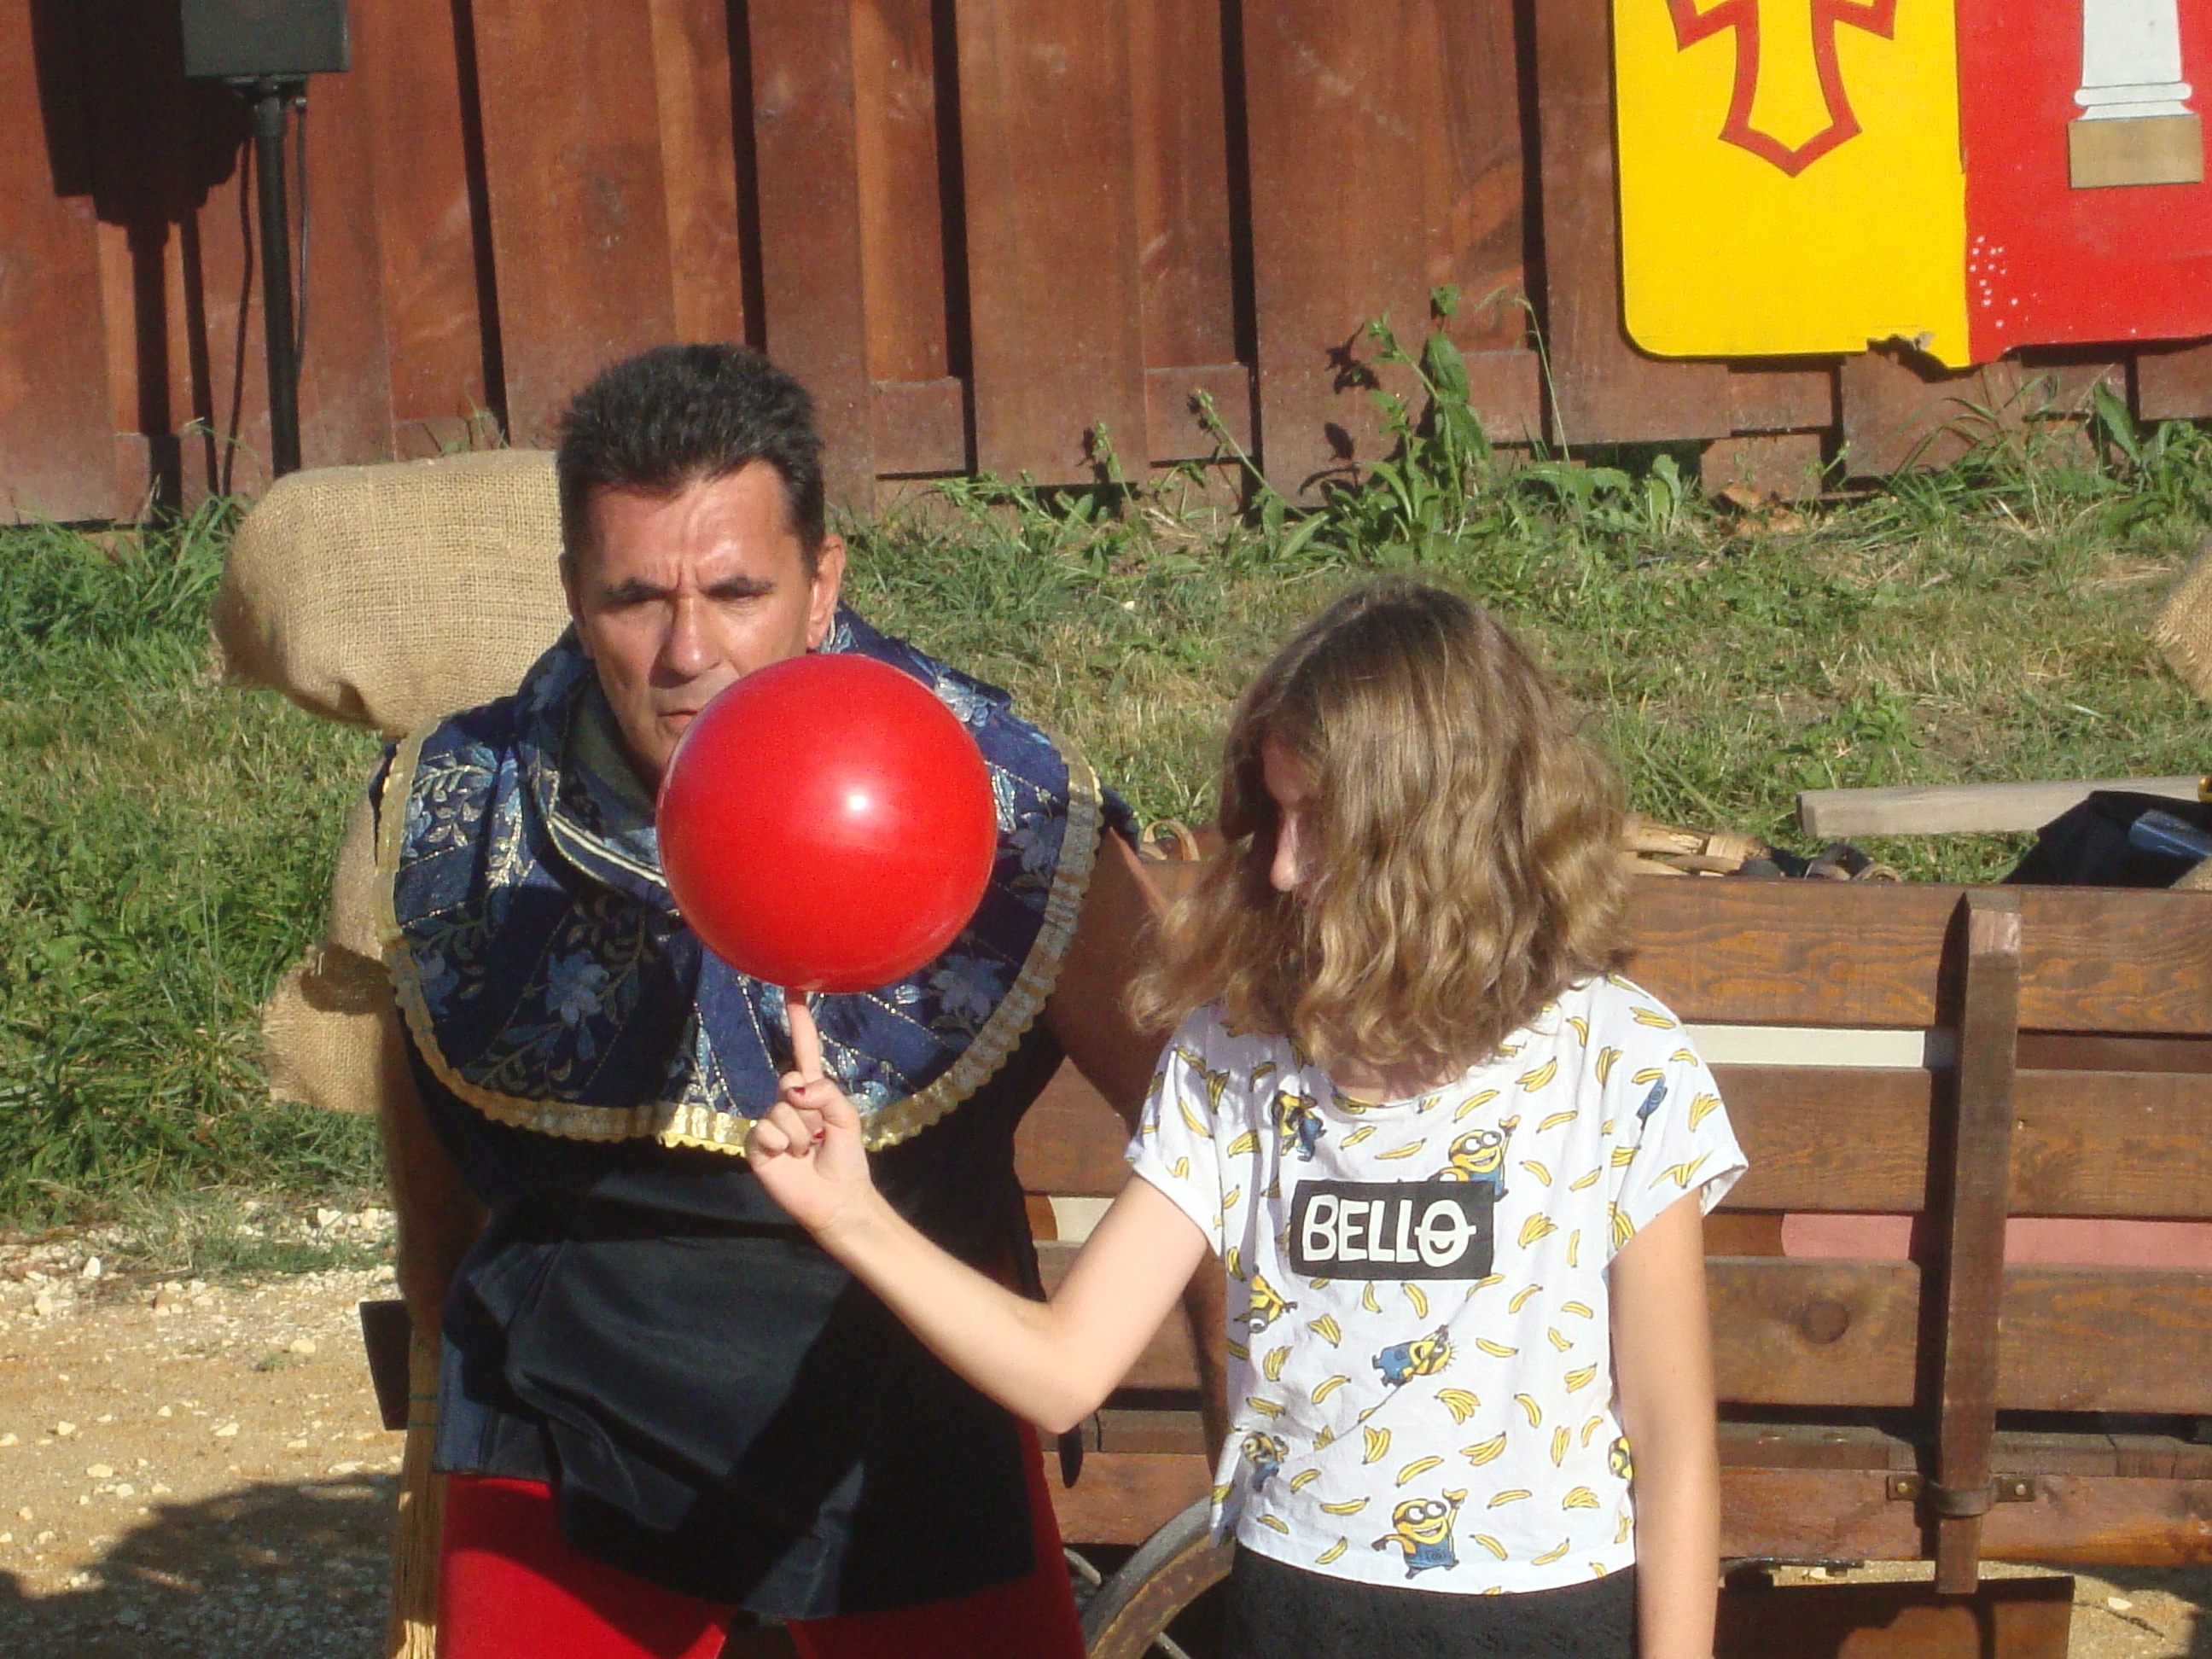
[[[825,1068],[869,1146],[889,1146],[989,1082],[1037,1018],[1102,814],[1126,810],[1102,803],[1082,757],[1018,719],[995,686],[849,611],[823,650],[933,690],[982,748],[998,799],[991,885],[951,947],[878,991],[814,998]],[[783,993],[701,949],[677,916],[653,799],[573,635],[513,697],[407,739],[383,803],[385,962],[453,1095],[544,1135],[743,1148],[790,1068]]]

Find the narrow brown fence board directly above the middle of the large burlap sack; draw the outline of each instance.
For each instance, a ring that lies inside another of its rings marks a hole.
[[[354,69],[376,179],[376,257],[392,376],[394,451],[434,456],[495,411],[491,228],[469,159],[476,49],[451,0],[356,7]]]

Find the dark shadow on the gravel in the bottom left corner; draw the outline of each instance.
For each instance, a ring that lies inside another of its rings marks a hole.
[[[374,1659],[396,1480],[246,1486],[161,1504],[71,1588],[0,1573],[0,1652],[53,1659]]]

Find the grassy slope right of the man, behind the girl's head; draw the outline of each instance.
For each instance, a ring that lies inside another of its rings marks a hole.
[[[2203,703],[2143,637],[2212,522],[2212,434],[2137,434],[2115,405],[2088,431],[1962,411],[1980,442],[1955,467],[1745,515],[1666,449],[1509,469],[1438,345],[1418,365],[1427,407],[1396,409],[1405,462],[1321,513],[1261,489],[1243,522],[1208,529],[1168,511],[1172,489],[960,484],[951,518],[863,533],[852,591],[1018,692],[1139,814],[1192,823],[1228,699],[1385,566],[1440,573],[1509,619],[1588,710],[1632,805],[1670,823],[1801,845],[1798,790],[2212,770]],[[1980,880],[2026,841],[1867,852]]]

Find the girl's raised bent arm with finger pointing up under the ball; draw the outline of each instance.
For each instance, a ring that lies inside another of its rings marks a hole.
[[[940,1360],[1053,1433],[1097,1409],[1208,1252],[1190,1217],[1159,1188],[1133,1179],[1060,1292],[1048,1303],[1015,1296],[885,1203],[867,1175],[852,1102],[836,1084],[801,1082],[799,1073],[783,1079],[783,1099],[754,1124],[745,1155],[770,1197]]]

